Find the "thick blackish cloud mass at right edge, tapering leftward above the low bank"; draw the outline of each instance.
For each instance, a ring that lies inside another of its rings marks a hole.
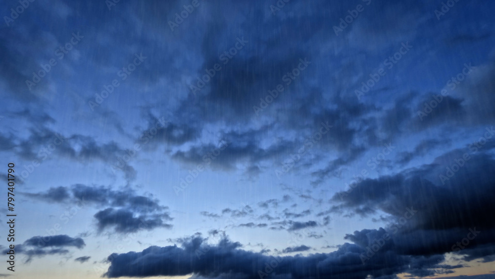
[[[470,154],[468,161],[459,167],[454,173],[455,176],[447,177],[446,167],[451,169],[456,160],[461,162],[459,158],[462,159],[465,153]],[[454,150],[438,157],[431,165],[409,169],[393,176],[366,179],[351,191],[335,194],[332,200],[342,201],[340,208],[360,212],[381,210],[396,217],[400,217],[404,212],[404,206],[414,206],[422,215],[418,225],[428,229],[477,223],[492,226],[495,225],[493,220],[490,221],[490,218],[482,213],[493,207],[489,200],[494,197],[494,162],[490,153],[471,154],[467,148]],[[465,185],[473,186],[467,191]],[[456,214],[434,214],[439,210]],[[474,214],[475,212],[479,214]]]

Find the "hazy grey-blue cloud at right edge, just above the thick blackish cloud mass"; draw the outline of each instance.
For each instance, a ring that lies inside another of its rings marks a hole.
[[[445,88],[441,91],[428,92],[420,98],[411,99],[411,106],[397,104],[402,115],[397,124],[407,127],[403,131],[443,125],[469,127],[493,123],[495,113],[485,104],[495,101],[493,94],[490,94],[495,89],[494,58],[480,65],[465,63],[458,71],[445,81]],[[410,115],[408,119],[407,115]]]

